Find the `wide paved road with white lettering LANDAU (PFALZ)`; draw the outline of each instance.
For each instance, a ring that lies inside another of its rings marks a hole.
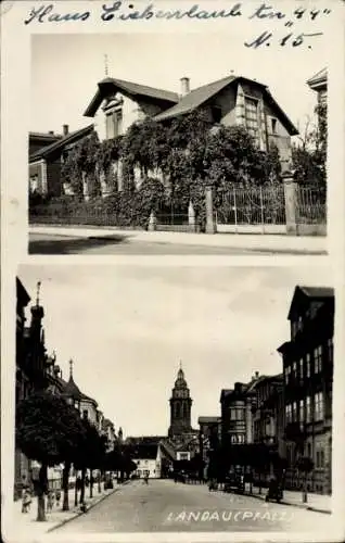
[[[331,516],[293,506],[209,492],[206,485],[169,480],[135,481],[56,531],[68,533],[260,531],[328,533]]]

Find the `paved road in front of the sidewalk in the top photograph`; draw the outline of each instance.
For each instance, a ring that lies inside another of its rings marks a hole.
[[[128,236],[112,238],[78,238],[59,235],[30,233],[29,254],[276,254],[273,251],[252,251],[227,247],[206,247],[158,241],[137,241]]]

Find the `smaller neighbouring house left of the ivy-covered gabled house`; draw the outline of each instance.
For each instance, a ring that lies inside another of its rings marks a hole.
[[[33,152],[29,154],[29,190],[40,194],[51,194],[59,197],[66,193],[63,189],[63,179],[61,178],[61,167],[64,156],[73,147],[84,138],[93,132],[93,125],[86,126],[74,132],[68,132],[68,126],[64,125],[63,136],[39,135],[29,137],[29,144]],[[35,150],[46,139],[47,144]],[[51,140],[49,142],[49,140]]]

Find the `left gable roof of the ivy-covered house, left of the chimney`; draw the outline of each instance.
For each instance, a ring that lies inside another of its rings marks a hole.
[[[114,79],[113,77],[106,77],[98,84],[98,91],[84,113],[86,117],[93,117],[95,115],[95,112],[104,100],[110,87],[115,90],[123,91],[125,94],[129,94],[131,97],[146,97],[168,102],[168,104],[174,104],[179,100],[177,92],[170,92],[169,90],[157,89],[155,87],[148,87],[146,85],[139,85],[138,83],[125,81],[124,79]]]

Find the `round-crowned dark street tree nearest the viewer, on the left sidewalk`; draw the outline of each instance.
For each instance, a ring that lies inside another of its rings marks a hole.
[[[48,467],[67,460],[78,433],[78,412],[62,396],[49,392],[37,392],[17,406],[16,443],[28,458],[41,464],[39,478],[34,481],[39,521],[46,520]]]

